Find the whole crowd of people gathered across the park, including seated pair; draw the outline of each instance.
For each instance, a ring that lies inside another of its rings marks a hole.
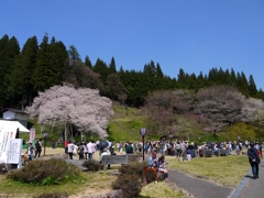
[[[40,157],[42,152],[42,140],[35,142],[35,146],[29,141],[28,161]],[[54,144],[53,144],[54,147]],[[165,155],[176,156],[177,158],[185,158],[190,161],[193,157],[199,156],[200,151],[211,150],[217,155],[218,150],[227,150],[228,154],[246,154],[252,167],[253,178],[258,178],[258,164],[261,162],[263,144],[258,142],[250,143],[244,142],[202,142],[200,144],[189,143],[188,141],[138,141],[138,142],[114,142],[101,140],[101,141],[88,141],[81,143],[75,143],[73,141],[64,142],[65,153],[70,160],[94,160],[96,151],[99,151],[99,161],[102,155],[117,155],[119,154],[133,154],[136,152],[144,152],[151,155],[148,158],[148,168],[154,169],[155,173],[162,172],[165,179],[168,179],[168,173],[165,165]],[[243,147],[248,152],[243,151]],[[116,153],[117,152],[117,153]],[[157,157],[157,153],[161,154]],[[156,178],[157,182],[157,178]]]

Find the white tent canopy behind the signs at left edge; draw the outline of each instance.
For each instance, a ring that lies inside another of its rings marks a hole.
[[[19,129],[20,132],[29,133],[24,125],[22,125],[19,121],[9,121],[9,120],[0,120],[0,132],[15,132]]]

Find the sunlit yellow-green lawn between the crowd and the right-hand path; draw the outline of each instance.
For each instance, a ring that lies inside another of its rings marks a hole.
[[[190,162],[166,156],[166,162],[169,168],[231,187],[238,186],[250,169],[246,155],[197,157]]]

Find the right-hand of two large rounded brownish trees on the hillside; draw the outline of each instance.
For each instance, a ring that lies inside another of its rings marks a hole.
[[[231,86],[216,86],[197,94],[195,112],[208,121],[206,131],[216,133],[224,125],[241,120],[244,97]]]

